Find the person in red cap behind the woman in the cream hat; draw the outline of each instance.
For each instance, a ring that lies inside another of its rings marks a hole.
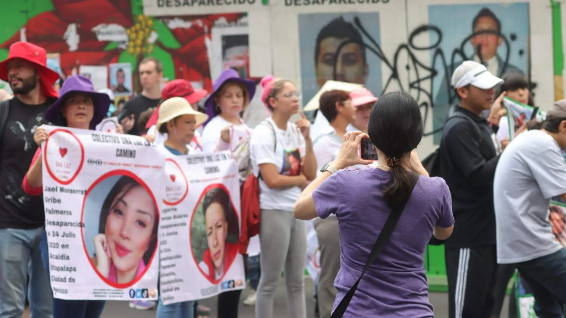
[[[172,97],[183,97],[188,101],[188,104],[191,104],[192,108],[196,110],[197,103],[203,99],[203,97],[207,96],[208,92],[204,89],[194,89],[191,85],[191,82],[185,79],[175,79],[170,81],[169,83],[165,84],[161,91],[161,102],[164,102]],[[153,114],[149,118],[147,124],[145,124],[145,128],[148,128],[146,138],[150,142],[154,142],[156,144],[162,144],[167,140],[167,134],[161,134],[156,129],[156,123],[158,120],[159,114],[159,106],[157,109],[153,111]],[[198,149],[199,151],[203,150],[203,145],[200,139],[199,131],[195,131],[195,136],[191,141],[191,147],[194,149]]]

